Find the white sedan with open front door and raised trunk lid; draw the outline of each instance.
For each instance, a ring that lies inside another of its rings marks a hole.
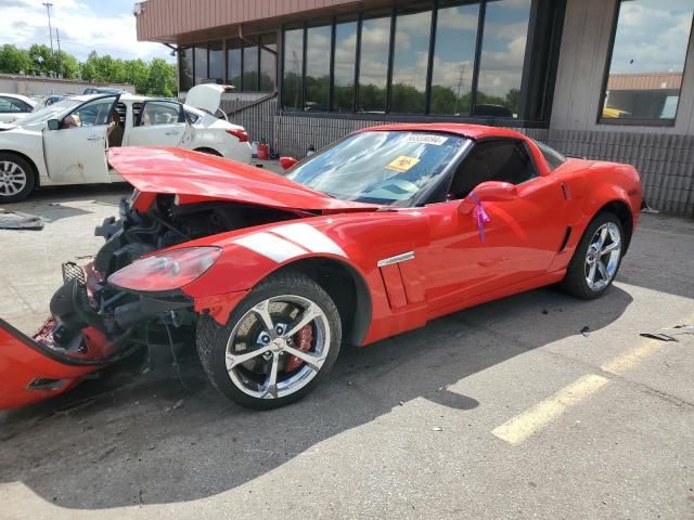
[[[37,186],[121,182],[106,161],[116,146],[175,146],[250,162],[243,127],[219,119],[227,88],[201,84],[187,104],[132,94],[78,95],[0,123],[0,205]]]

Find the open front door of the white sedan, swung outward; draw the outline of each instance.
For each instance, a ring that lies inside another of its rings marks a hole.
[[[43,129],[43,154],[53,182],[108,182],[108,121],[117,100],[118,95],[97,98],[60,121],[49,121]]]

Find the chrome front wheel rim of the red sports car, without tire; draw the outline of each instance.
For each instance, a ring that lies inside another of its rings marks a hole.
[[[307,328],[310,344],[299,346],[297,338]],[[227,372],[247,395],[283,398],[318,375],[330,344],[327,316],[320,307],[301,296],[274,296],[248,310],[234,326],[227,341]],[[292,359],[300,361],[294,369]]]

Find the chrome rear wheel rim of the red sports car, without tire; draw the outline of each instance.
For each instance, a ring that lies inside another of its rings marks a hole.
[[[586,255],[586,283],[595,292],[604,289],[615,277],[621,255],[621,233],[613,222],[595,231]]]

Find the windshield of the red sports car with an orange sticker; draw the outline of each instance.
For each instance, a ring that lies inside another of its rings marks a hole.
[[[342,200],[407,206],[465,143],[442,133],[361,132],[300,162],[286,177]]]

